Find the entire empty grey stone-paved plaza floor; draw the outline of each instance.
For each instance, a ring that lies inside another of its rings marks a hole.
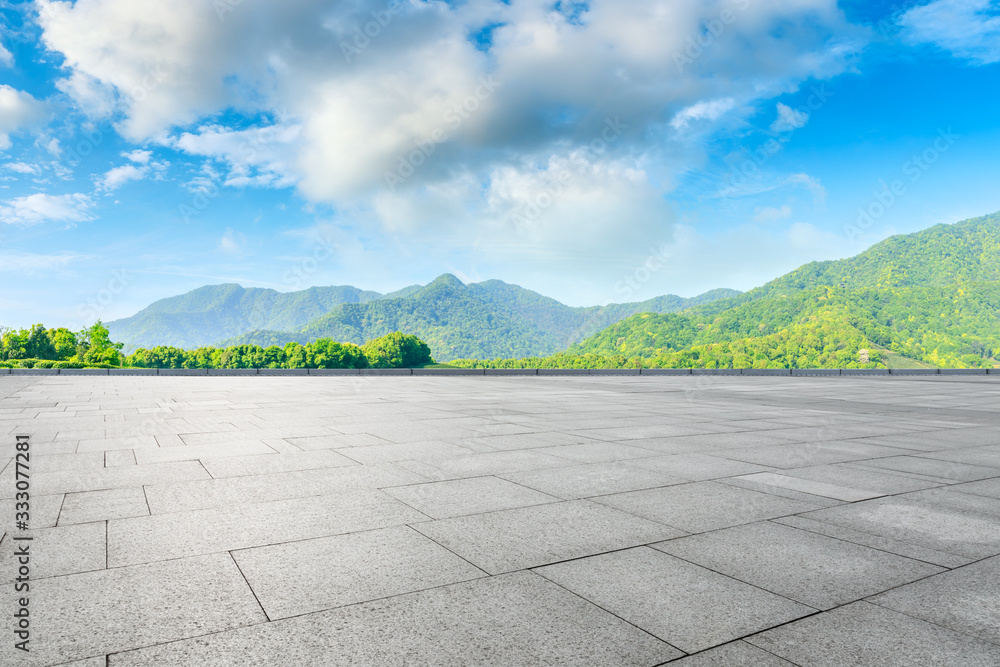
[[[3,376],[0,434],[5,666],[1000,665],[996,376]]]

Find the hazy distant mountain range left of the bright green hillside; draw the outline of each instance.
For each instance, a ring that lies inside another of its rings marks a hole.
[[[161,299],[107,327],[127,350],[266,347],[317,338],[363,344],[402,331],[430,345],[435,360],[448,361],[552,354],[636,313],[676,312],[738,294],[718,289],[690,299],[671,294],[574,308],[500,280],[466,285],[451,274],[390,294],[350,286],[282,293],[225,284]]]

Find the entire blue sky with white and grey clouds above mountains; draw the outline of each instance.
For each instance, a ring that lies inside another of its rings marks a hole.
[[[998,103],[997,0],[0,0],[0,324],[746,290],[1000,210]]]

